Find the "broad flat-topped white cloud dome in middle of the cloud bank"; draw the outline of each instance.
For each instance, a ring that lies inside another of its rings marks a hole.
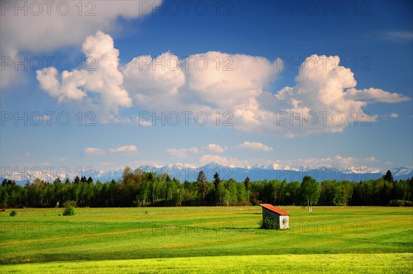
[[[182,65],[191,94],[221,109],[253,105],[251,98],[259,96],[278,72],[277,62],[264,57],[222,52],[193,54]]]

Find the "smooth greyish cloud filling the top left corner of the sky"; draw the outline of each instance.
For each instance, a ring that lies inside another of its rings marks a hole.
[[[11,7],[4,3],[1,5],[0,53],[13,59],[22,50],[44,52],[78,45],[87,35],[98,30],[118,29],[118,17],[142,17],[162,3],[157,0],[82,1],[79,2],[82,4],[80,9],[77,1],[52,1],[48,4],[46,1],[7,2]],[[14,6],[17,5],[25,8],[17,10],[15,15]],[[2,71],[1,87],[15,83],[17,74],[12,69]]]

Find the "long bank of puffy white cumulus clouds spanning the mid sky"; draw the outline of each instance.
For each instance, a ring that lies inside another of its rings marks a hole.
[[[382,89],[355,89],[354,74],[338,65],[338,56],[309,56],[295,78],[296,85],[273,94],[271,83],[281,63],[263,57],[207,52],[179,61],[166,52],[154,58],[138,56],[118,67],[118,50],[103,32],[88,36],[83,52],[98,56],[96,72],[74,70],[59,76],[56,70],[45,69],[38,72],[38,80],[59,102],[74,101],[95,110],[103,122],[139,122],[118,114],[132,105],[157,115],[206,112],[211,120],[220,112],[220,125],[223,113],[228,112],[237,130],[293,138],[342,132],[353,124],[354,113],[357,118],[368,115],[363,111],[368,103],[410,100]],[[374,122],[377,115],[367,120]]]

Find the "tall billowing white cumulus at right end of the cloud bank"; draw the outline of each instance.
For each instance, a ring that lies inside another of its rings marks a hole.
[[[354,112],[364,115],[362,107],[366,102],[345,97],[346,89],[357,85],[354,74],[338,64],[338,56],[309,56],[301,64],[295,78],[297,84],[275,94],[274,104],[279,112],[274,119],[281,129],[279,134],[294,137],[341,132],[352,122]]]

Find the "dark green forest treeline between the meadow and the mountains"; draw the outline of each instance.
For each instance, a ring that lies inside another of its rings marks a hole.
[[[302,182],[260,180],[244,182],[220,180],[215,173],[209,182],[203,171],[195,182],[181,183],[167,174],[132,171],[126,167],[123,177],[111,182],[93,182],[76,176],[61,182],[44,182],[37,178],[22,187],[4,179],[0,186],[0,207],[56,207],[59,202],[74,200],[78,207],[162,207],[248,205],[326,206],[411,206],[413,178],[393,180],[392,173],[363,182],[326,180],[319,184],[310,176]]]

